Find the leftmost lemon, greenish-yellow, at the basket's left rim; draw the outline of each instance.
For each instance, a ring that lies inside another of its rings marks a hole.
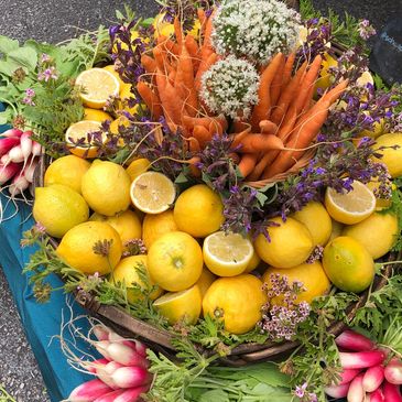
[[[61,238],[74,226],[88,219],[88,205],[80,194],[63,184],[35,188],[33,217],[46,232]]]

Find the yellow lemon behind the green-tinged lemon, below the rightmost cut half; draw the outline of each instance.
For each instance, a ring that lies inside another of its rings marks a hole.
[[[359,224],[346,226],[343,236],[358,240],[376,260],[387,254],[394,245],[398,218],[394,214],[373,213]]]

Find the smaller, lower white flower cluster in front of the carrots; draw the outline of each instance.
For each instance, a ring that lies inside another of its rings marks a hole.
[[[258,102],[260,75],[254,66],[230,55],[215,63],[202,78],[200,97],[216,113],[248,117]]]

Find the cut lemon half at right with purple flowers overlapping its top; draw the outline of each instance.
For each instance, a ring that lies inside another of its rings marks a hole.
[[[325,194],[328,214],[335,220],[346,225],[354,225],[366,219],[376,209],[376,196],[367,185],[354,181],[352,187],[354,189],[349,193],[337,193],[328,187]]]

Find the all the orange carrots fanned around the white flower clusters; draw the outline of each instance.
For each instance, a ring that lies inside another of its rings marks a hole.
[[[137,89],[152,117],[164,117],[174,132],[180,129],[194,153],[203,150],[214,134],[229,132],[232,159],[241,175],[254,184],[283,178],[286,172],[304,166],[314,153],[314,142],[329,107],[348,82],[340,82],[314,102],[322,57],[295,68],[294,53],[279,53],[260,69],[259,101],[251,117],[235,121],[229,128],[225,116],[214,116],[199,96],[203,74],[219,56],[211,45],[214,13],[206,18],[198,10],[198,19],[199,43],[183,34],[176,19],[175,41],[161,35],[152,54],[142,55],[144,77],[150,79],[140,80]],[[193,163],[196,161],[197,157],[192,159]]]

